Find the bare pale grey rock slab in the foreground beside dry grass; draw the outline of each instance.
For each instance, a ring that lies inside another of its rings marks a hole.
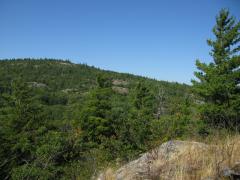
[[[152,152],[143,154],[139,159],[131,161],[124,165],[114,173],[114,179],[117,180],[134,180],[134,179],[155,179],[159,176],[159,166],[155,166],[155,162],[165,163],[180,156],[187,148],[193,146],[198,149],[205,149],[207,146],[203,143],[185,142],[185,141],[169,141],[162,144],[159,148]],[[164,169],[162,169],[163,171]],[[163,179],[164,177],[162,177]],[[166,175],[166,179],[169,179]],[[164,179],[165,179],[164,178]],[[106,180],[104,174],[98,177],[98,180]]]

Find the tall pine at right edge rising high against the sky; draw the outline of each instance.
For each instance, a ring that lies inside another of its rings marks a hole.
[[[240,123],[240,22],[222,9],[213,28],[215,40],[207,40],[212,47],[210,64],[196,61],[198,72],[193,89],[205,103],[202,118],[213,126],[236,127]]]

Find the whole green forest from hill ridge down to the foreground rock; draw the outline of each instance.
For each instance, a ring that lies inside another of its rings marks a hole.
[[[194,106],[187,85],[70,61],[1,60],[0,179],[89,179],[201,132]]]

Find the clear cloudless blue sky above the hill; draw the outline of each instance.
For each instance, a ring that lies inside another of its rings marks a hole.
[[[206,39],[240,0],[0,0],[0,59],[59,58],[190,83]]]

